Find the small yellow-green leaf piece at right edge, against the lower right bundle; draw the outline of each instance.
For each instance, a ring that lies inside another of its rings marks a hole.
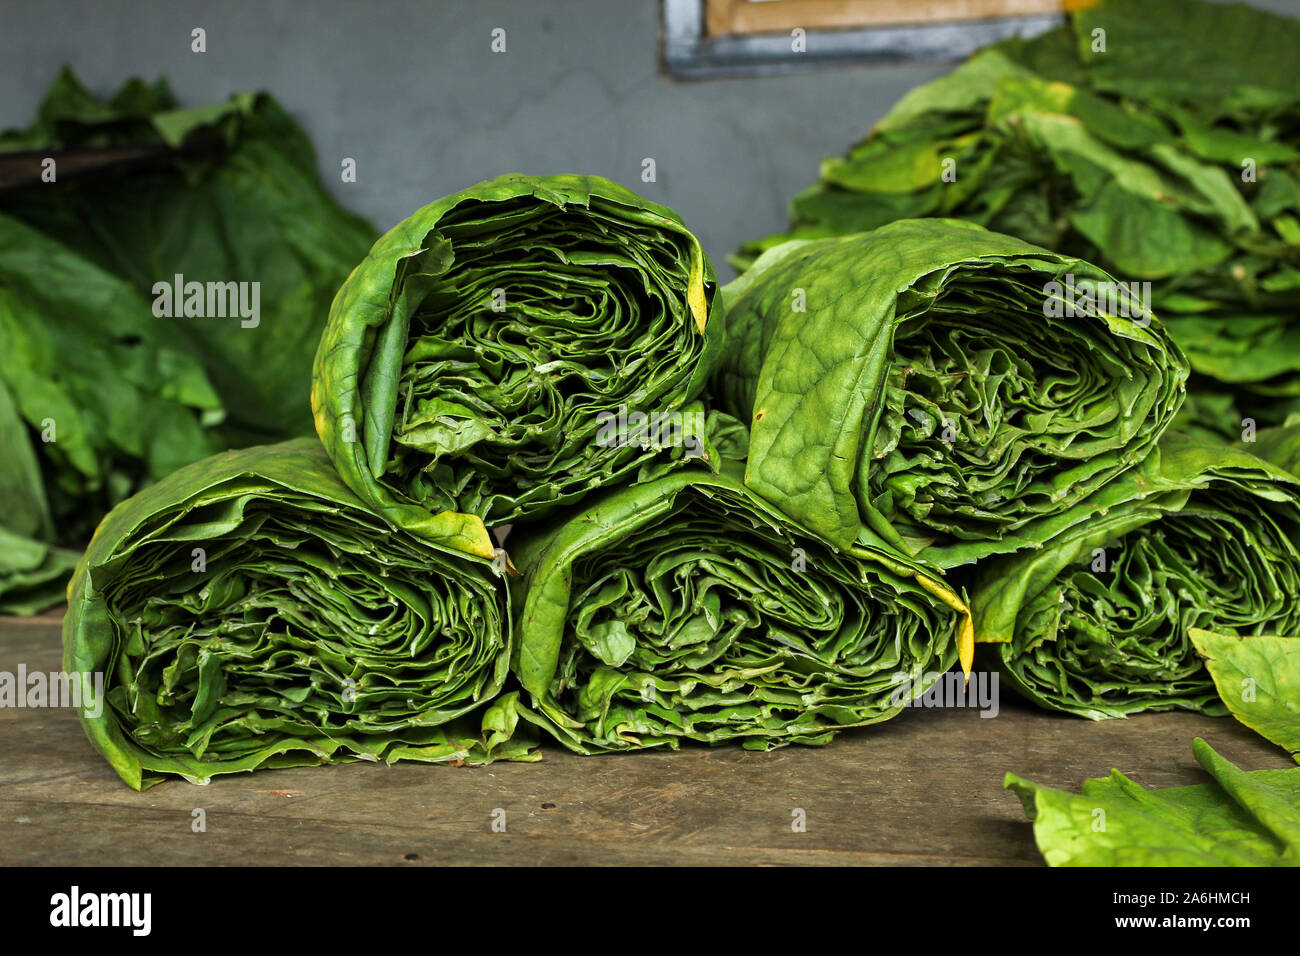
[[[1296,637],[1190,632],[1232,715],[1266,740],[1300,753],[1300,643]]]

